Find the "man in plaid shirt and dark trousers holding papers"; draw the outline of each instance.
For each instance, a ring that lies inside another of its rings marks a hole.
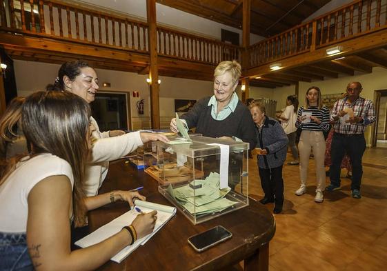
[[[335,134],[333,134],[331,145],[332,165],[330,165],[330,185],[327,191],[340,189],[340,165],[345,152],[350,157],[352,165],[352,197],[360,199],[361,177],[363,167],[361,158],[366,150],[366,139],[364,132],[366,127],[376,119],[373,102],[360,97],[363,90],[361,83],[348,83],[344,99],[336,101],[330,113],[330,120],[335,124]]]

